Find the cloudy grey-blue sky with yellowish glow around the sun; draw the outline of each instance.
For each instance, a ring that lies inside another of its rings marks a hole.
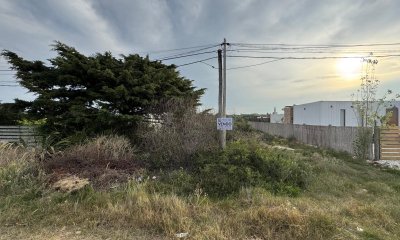
[[[85,55],[111,51],[159,60],[195,51],[201,54],[163,63],[212,58],[177,69],[207,89],[202,108],[216,111],[215,57],[226,38],[227,112],[265,114],[352,100],[365,73],[362,57],[370,53],[379,61],[378,95],[400,92],[399,12],[396,0],[0,0],[0,49],[45,62],[55,56],[55,40]],[[172,49],[181,50],[164,51]],[[0,58],[0,70],[8,67]],[[13,72],[0,71],[1,102],[35,97],[16,82]]]

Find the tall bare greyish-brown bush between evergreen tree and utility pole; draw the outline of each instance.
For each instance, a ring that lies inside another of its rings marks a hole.
[[[162,112],[158,123],[143,124],[138,130],[148,167],[188,167],[194,153],[218,147],[215,116],[197,113],[190,101],[170,101],[157,112]]]

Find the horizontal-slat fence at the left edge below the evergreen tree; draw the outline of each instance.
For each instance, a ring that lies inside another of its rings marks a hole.
[[[18,142],[27,146],[37,143],[37,134],[33,127],[0,126],[0,142]]]

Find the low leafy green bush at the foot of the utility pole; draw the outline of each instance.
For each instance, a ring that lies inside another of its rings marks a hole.
[[[225,151],[201,154],[196,162],[200,186],[215,197],[249,186],[298,195],[306,188],[310,172],[310,166],[293,152],[240,141],[229,144]]]

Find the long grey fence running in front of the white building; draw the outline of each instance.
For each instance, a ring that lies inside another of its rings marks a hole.
[[[285,138],[294,136],[298,141],[306,144],[349,153],[353,152],[353,141],[357,133],[357,127],[309,126],[265,122],[249,123],[253,128],[271,135]]]

